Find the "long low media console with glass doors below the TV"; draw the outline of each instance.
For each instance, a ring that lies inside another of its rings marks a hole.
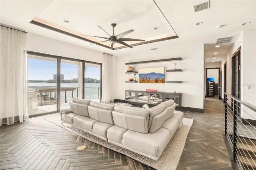
[[[176,107],[181,107],[182,93],[164,93],[164,92],[148,92],[148,91],[125,91],[125,101],[158,105],[163,101],[174,100]]]

